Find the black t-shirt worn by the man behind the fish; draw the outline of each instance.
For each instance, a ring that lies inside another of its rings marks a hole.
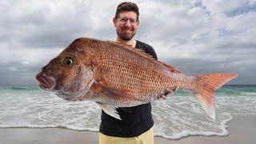
[[[144,42],[136,41],[135,48],[144,50],[158,59],[153,47]],[[102,134],[122,138],[136,137],[150,130],[154,125],[150,103],[133,107],[119,107],[118,114],[122,120],[113,118],[102,110],[102,122],[99,130]]]

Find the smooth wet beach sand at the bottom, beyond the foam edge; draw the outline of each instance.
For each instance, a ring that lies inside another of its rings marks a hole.
[[[158,144],[253,144],[256,142],[256,115],[235,115],[227,123],[230,135],[190,136],[179,140],[155,137]],[[0,129],[2,144],[98,144],[98,133],[66,130],[61,128],[2,128]]]

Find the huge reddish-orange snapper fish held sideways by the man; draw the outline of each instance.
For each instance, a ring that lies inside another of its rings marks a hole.
[[[215,119],[214,91],[237,74],[186,76],[142,50],[116,42],[78,38],[37,74],[38,86],[67,101],[94,101],[114,118],[117,107],[159,100],[166,89],[190,90]]]

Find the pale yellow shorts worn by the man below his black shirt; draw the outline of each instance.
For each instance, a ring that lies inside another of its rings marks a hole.
[[[153,127],[138,137],[132,138],[112,137],[99,133],[98,140],[99,144],[154,144]]]

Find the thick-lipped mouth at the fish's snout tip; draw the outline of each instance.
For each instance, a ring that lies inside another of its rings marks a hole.
[[[46,76],[46,74],[39,73],[36,76],[38,86],[42,90],[51,90],[55,86],[54,78]]]

